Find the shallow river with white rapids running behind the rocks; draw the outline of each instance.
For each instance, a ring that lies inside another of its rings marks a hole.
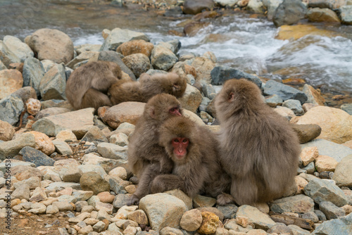
[[[101,31],[115,27],[144,32],[151,42],[179,39],[180,53],[212,51],[218,63],[263,77],[305,80],[332,94],[352,94],[352,26],[318,25],[339,37],[306,36],[296,41],[275,39],[277,28],[266,18],[224,11],[195,37],[168,35],[190,15],[163,17],[142,6],[118,8],[94,0],[1,0],[0,39],[24,39],[43,27],[68,34],[75,45],[102,44]]]

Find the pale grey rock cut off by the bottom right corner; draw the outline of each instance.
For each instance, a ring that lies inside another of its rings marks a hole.
[[[312,235],[349,235],[352,227],[352,213],[336,220],[329,220],[315,227]]]

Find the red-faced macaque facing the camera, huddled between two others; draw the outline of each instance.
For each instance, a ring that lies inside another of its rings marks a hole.
[[[219,143],[215,134],[189,118],[173,117],[160,128],[159,144],[173,162],[172,174],[160,174],[151,183],[151,193],[181,189],[188,196],[198,193],[218,197],[218,204],[230,203],[231,178],[222,171]]]

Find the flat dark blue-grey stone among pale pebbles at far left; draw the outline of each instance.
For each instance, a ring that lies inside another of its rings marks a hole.
[[[32,147],[27,146],[22,148],[20,154],[23,155],[23,161],[34,163],[36,167],[41,165],[52,166],[55,163],[54,159],[49,158],[46,154]]]

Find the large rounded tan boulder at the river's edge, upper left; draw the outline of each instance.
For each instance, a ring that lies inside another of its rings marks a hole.
[[[73,42],[67,34],[59,30],[37,30],[26,42],[39,61],[50,60],[59,64],[73,59]]]

